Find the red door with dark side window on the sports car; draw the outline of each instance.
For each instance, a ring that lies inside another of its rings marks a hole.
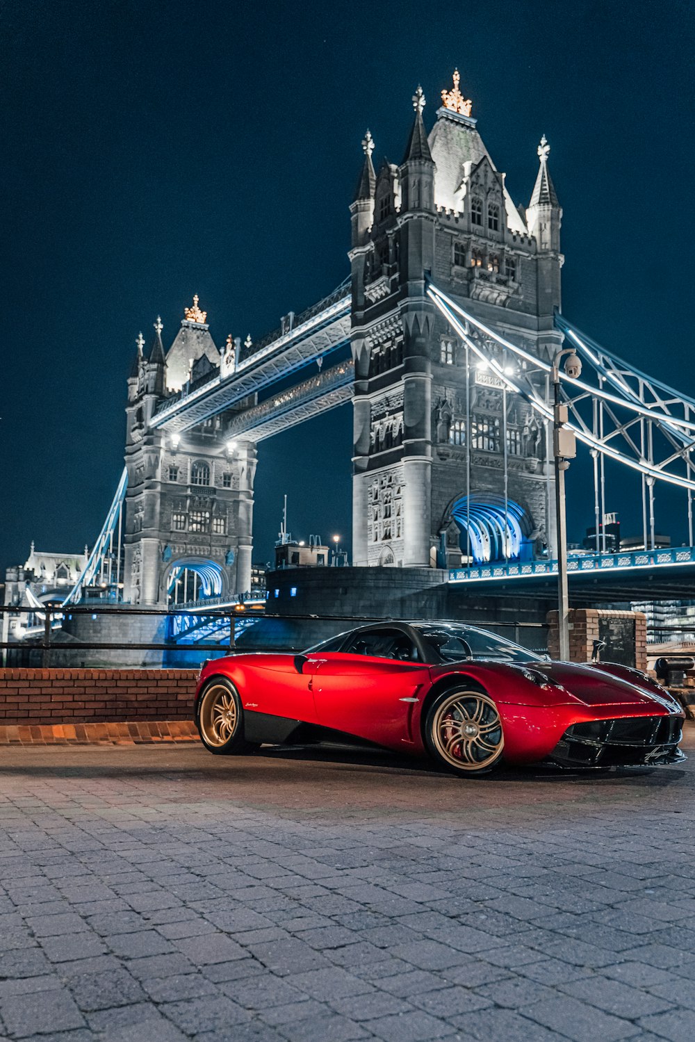
[[[413,706],[429,673],[403,630],[358,630],[343,651],[312,654],[304,672],[323,726],[392,748],[412,743]]]

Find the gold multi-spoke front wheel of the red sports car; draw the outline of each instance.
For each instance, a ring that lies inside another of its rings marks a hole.
[[[492,766],[504,747],[502,721],[492,698],[480,691],[456,691],[442,702],[431,723],[435,748],[460,771]]]

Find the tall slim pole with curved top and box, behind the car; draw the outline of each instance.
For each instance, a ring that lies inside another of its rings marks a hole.
[[[552,359],[553,388],[553,427],[552,454],[555,465],[555,525],[557,528],[557,635],[560,638],[560,658],[569,662],[570,630],[569,630],[569,592],[567,588],[567,506],[565,502],[565,471],[569,460],[577,454],[574,431],[565,426],[567,423],[567,405],[560,400],[560,359],[565,359],[565,372],[572,380],[581,374],[581,359],[573,347],[561,348]]]

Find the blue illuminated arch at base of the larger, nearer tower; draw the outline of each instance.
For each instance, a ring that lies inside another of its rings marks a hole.
[[[476,564],[491,561],[521,561],[532,556],[531,522],[519,503],[493,493],[462,496],[451,507],[451,517],[461,532],[462,553]]]

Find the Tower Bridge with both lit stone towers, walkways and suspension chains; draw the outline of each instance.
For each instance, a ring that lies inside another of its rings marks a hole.
[[[593,458],[597,559],[606,462],[641,482],[645,549],[662,481],[682,490],[694,542],[695,401],[561,314],[549,145],[518,204],[460,83],[455,72],[429,132],[418,88],[400,164],[375,169],[367,131],[350,275],[329,296],[255,343],[216,345],[197,297],[167,349],[159,320],[147,352],[141,334],[126,469],[68,600],[121,534],[127,602],[166,603],[189,571],[203,597],[249,590],[256,444],[348,401],[356,566],[448,568],[454,582],[540,575],[555,556],[550,380],[566,341],[585,365],[581,380],[563,374],[562,398]]]

